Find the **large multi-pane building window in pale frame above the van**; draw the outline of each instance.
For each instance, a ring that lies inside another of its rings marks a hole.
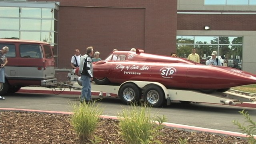
[[[58,12],[56,2],[0,2],[0,38],[48,42],[58,67]]]

